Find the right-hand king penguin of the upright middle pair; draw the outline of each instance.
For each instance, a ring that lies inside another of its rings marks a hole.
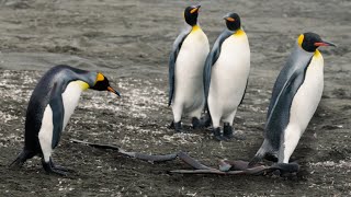
[[[249,40],[240,16],[229,13],[227,28],[216,39],[204,69],[204,88],[213,134],[217,140],[234,137],[233,120],[242,102],[250,71]],[[220,121],[224,123],[223,135]]]

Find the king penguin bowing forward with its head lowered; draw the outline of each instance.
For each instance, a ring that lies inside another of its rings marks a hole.
[[[54,164],[52,152],[78,105],[81,92],[87,89],[110,91],[120,96],[100,72],[60,65],[43,76],[29,102],[24,148],[11,166],[22,166],[27,159],[39,155],[47,173],[67,175],[68,170]]]

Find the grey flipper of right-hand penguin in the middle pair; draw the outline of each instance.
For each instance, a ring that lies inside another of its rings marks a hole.
[[[228,38],[230,35],[233,35],[234,32],[225,30],[222,32],[222,34],[217,37],[215,44],[212,47],[212,50],[207,55],[206,61],[205,61],[205,67],[204,67],[204,91],[205,91],[205,101],[206,101],[206,107],[207,107],[207,97],[210,93],[210,84],[211,84],[211,72],[212,72],[212,67],[215,65],[217,59],[219,58],[220,55],[220,47],[223,42]]]

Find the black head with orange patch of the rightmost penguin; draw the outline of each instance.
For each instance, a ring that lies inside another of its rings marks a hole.
[[[336,46],[332,43],[322,40],[318,34],[310,33],[310,32],[299,35],[297,38],[297,44],[304,50],[309,53],[316,51],[316,49],[320,46]]]

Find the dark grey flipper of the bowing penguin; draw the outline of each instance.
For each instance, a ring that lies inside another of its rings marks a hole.
[[[52,99],[49,101],[49,105],[53,111],[53,141],[52,148],[54,149],[60,139],[63,127],[64,127],[64,117],[65,117],[65,108],[61,96],[61,91],[59,89],[59,84],[55,83],[52,90]]]

